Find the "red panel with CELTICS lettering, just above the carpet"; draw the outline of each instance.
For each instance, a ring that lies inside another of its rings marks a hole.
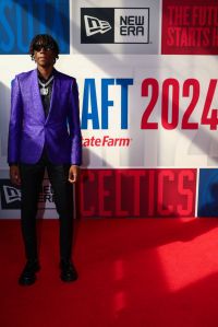
[[[196,170],[83,170],[83,218],[194,217]]]

